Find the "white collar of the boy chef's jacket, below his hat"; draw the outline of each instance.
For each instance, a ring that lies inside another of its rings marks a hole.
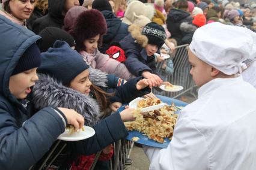
[[[230,86],[234,83],[241,83],[242,81],[243,78],[241,75],[235,78],[215,78],[214,80],[209,81],[208,83],[200,87],[198,91],[198,99],[206,95],[207,93],[212,93],[214,90],[217,90],[221,87]]]

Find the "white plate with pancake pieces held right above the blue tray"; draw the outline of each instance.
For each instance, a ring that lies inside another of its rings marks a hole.
[[[130,108],[135,108],[135,110],[140,110],[141,113],[146,111],[156,110],[164,107],[165,103],[160,101],[160,99],[144,99],[144,98],[136,98],[129,103]]]

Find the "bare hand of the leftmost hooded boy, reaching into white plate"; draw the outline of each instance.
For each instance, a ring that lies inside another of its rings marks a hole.
[[[85,125],[85,119],[84,117],[77,113],[73,109],[68,109],[68,108],[62,108],[58,107],[60,111],[66,116],[67,119],[67,124],[73,125],[75,127],[75,132],[78,129],[81,129]]]

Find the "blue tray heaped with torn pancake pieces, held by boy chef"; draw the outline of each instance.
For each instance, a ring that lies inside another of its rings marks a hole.
[[[139,110],[136,110],[137,113],[136,111],[134,113],[138,115],[136,120],[124,123],[127,130],[129,130],[126,139],[150,147],[167,148],[171,141],[178,112],[187,104],[166,96],[156,96],[169,105],[165,105],[157,111],[142,114],[138,112]],[[121,107],[119,111],[123,109],[124,107]]]

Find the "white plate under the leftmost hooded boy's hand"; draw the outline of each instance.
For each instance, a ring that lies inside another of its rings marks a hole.
[[[69,133],[69,130],[65,130],[64,133],[58,136],[59,140],[62,141],[81,141],[83,139],[90,138],[95,134],[95,131],[93,128],[89,126],[84,126],[84,131],[80,129],[78,132]]]

